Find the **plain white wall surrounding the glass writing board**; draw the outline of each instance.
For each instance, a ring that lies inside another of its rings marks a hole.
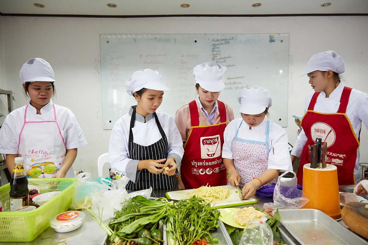
[[[97,158],[107,152],[111,133],[102,129],[99,34],[290,33],[289,126],[286,130],[291,144],[297,138],[298,129],[291,115],[303,114],[304,98],[312,91],[308,79],[299,78],[299,75],[313,54],[336,51],[346,64],[344,84],[368,92],[367,16],[1,19],[6,88],[16,93],[14,108],[27,102],[19,79],[22,64],[33,57],[50,62],[57,80],[54,102],[74,112],[88,141],[88,145],[78,149],[74,169],[89,171],[93,177],[97,177]],[[363,126],[361,149],[367,149],[367,146],[368,130]],[[361,162],[368,162],[368,151],[361,150]]]

